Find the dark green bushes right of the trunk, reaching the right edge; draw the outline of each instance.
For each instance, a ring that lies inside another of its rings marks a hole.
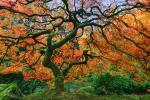
[[[110,94],[145,94],[150,89],[150,83],[137,83],[130,75],[111,76],[108,72],[104,74],[92,74],[87,78],[92,83],[95,93],[98,95]]]

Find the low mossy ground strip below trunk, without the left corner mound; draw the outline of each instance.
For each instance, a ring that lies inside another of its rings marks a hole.
[[[45,91],[25,96],[24,100],[150,100],[150,94],[98,96],[87,93],[55,93],[52,91]]]

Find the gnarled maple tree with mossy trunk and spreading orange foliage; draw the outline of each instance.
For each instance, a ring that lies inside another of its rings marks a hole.
[[[24,66],[26,79],[54,76],[57,90],[73,66],[97,66],[101,60],[145,66],[150,25],[142,17],[150,18],[149,6],[148,0],[1,0],[1,64],[11,58],[8,66]]]

